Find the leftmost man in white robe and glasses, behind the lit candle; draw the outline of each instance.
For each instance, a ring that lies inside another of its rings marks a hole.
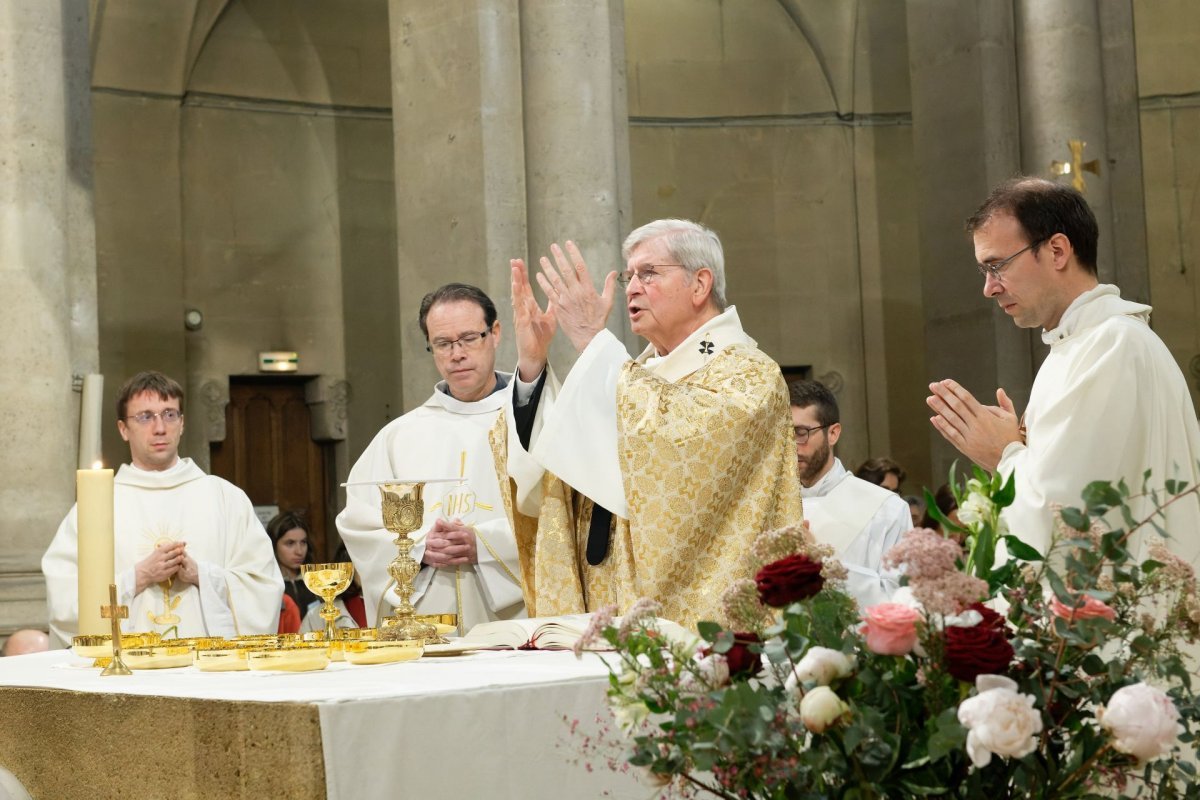
[[[274,633],[283,578],[245,492],[179,457],[184,390],[142,372],[118,392],[116,429],[130,462],[114,479],[114,569],[126,631],[163,636]],[[42,557],[50,634],[70,646],[78,633],[76,509]]]

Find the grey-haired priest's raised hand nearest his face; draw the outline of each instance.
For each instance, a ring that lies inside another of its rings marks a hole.
[[[541,257],[541,271],[538,273],[538,285],[550,299],[551,311],[558,318],[558,325],[566,338],[580,353],[592,338],[604,330],[604,324],[612,312],[613,295],[617,288],[617,273],[610,272],[604,282],[604,291],[596,294],[592,285],[592,275],[583,255],[575,242],[566,242],[568,260],[563,248],[551,245],[554,263]]]

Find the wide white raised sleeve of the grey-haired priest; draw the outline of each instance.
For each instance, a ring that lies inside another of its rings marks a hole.
[[[617,457],[617,380],[629,361],[608,330],[593,337],[571,367],[533,440],[538,463],[618,517],[628,517]]]

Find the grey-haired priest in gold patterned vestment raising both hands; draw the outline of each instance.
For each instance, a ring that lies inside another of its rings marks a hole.
[[[624,612],[646,596],[688,626],[720,620],[721,594],[752,577],[755,536],[802,518],[779,365],[726,305],[721,243],[703,225],[638,228],[624,272],[600,293],[572,242],[551,252],[536,276],[545,312],[512,263],[518,338],[548,337],[557,323],[580,353],[520,443],[551,473],[538,519],[516,519],[530,615]],[[605,329],[618,283],[649,342],[635,359]],[[522,366],[518,378],[538,372]]]

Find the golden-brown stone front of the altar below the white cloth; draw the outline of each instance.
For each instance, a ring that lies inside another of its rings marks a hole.
[[[0,764],[35,800],[325,798],[312,704],[0,686]]]

